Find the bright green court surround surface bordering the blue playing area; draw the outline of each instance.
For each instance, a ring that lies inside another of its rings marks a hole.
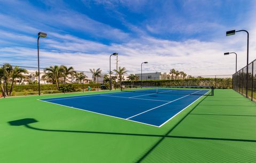
[[[256,104],[234,90],[162,127],[37,100],[85,94],[0,99],[0,162],[256,162]]]

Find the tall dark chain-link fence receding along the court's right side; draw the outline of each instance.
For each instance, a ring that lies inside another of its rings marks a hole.
[[[243,96],[256,100],[256,59],[233,74],[233,89]]]

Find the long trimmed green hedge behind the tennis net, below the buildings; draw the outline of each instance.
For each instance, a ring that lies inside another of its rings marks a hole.
[[[122,81],[122,84],[131,85],[131,81]],[[135,81],[133,85],[140,85],[141,81]],[[202,79],[171,79],[171,80],[143,80],[142,85],[168,87],[168,86],[206,86],[214,88],[232,88],[231,78],[202,78]]]

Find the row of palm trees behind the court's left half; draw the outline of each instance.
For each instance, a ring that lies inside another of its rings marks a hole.
[[[109,83],[109,75],[105,74],[102,75],[102,70],[100,68],[97,69],[90,69],[90,72],[93,76],[93,82],[98,83],[98,79],[103,77],[103,82],[105,84]],[[115,76],[111,76],[111,79],[113,80],[113,83],[117,79],[118,84],[120,85],[121,82],[124,80],[124,75],[127,74],[127,70],[125,67],[119,66],[117,70],[115,69],[114,72],[116,73]],[[5,63],[4,66],[0,67],[0,85],[1,85],[1,91],[2,95],[5,96],[11,96],[13,85],[16,83],[15,80],[19,79],[19,82],[24,79],[28,79],[28,76],[26,74],[28,73],[28,70],[25,68],[19,67],[19,66],[12,66],[9,63]],[[113,72],[111,72],[113,74]],[[36,71],[34,74],[31,74],[31,76],[34,76],[37,80],[35,81],[28,81],[29,84],[37,84],[39,73]],[[65,65],[54,65],[50,67],[44,68],[44,74],[41,76],[40,81],[48,81],[52,84],[55,84],[57,87],[57,90],[63,89],[60,87],[60,84],[65,85],[68,83],[68,77],[73,78],[75,81],[78,81],[79,83],[83,83],[85,80],[89,80],[88,76],[86,76],[83,72],[77,72],[74,70],[74,67],[67,67]],[[133,77],[131,78],[133,79]],[[96,81],[97,80],[97,81]],[[3,83],[5,82],[5,83]],[[5,88],[4,88],[5,85]],[[11,85],[8,87],[8,85]],[[63,87],[63,86],[62,86]],[[64,86],[65,87],[65,86]]]

